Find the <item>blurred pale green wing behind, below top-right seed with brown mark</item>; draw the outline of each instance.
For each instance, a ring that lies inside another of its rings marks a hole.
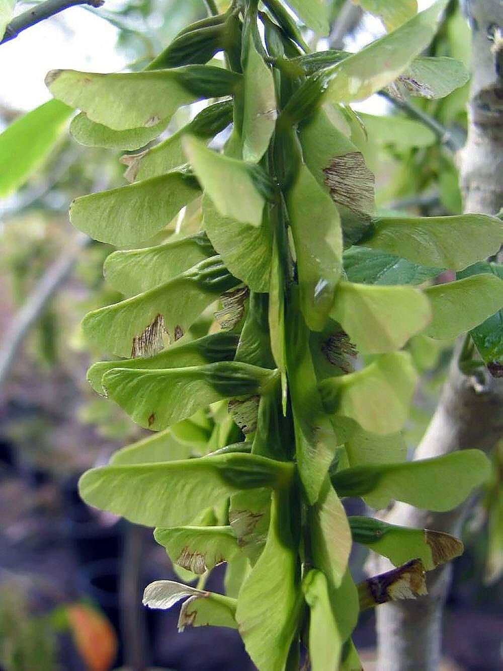
[[[392,144],[404,152],[413,147],[430,147],[437,142],[433,130],[413,119],[396,114],[378,116],[360,111],[358,116],[366,127],[370,139],[376,144]]]

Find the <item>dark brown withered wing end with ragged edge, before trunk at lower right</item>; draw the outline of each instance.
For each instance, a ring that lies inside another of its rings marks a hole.
[[[427,594],[425,567],[419,559],[368,578],[357,585],[360,610],[398,599],[416,599]]]

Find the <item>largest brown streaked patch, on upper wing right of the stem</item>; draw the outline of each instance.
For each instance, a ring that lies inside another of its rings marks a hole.
[[[336,156],[323,172],[334,203],[367,215],[374,212],[374,174],[361,152]]]

